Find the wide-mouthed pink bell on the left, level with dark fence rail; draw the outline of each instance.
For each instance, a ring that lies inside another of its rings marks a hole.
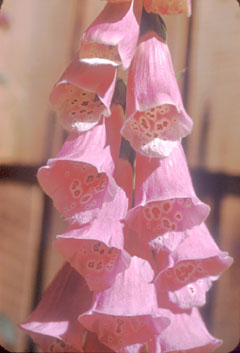
[[[72,132],[57,157],[39,169],[43,190],[72,223],[91,221],[102,203],[112,200],[117,191],[112,173],[120,148],[122,119],[122,107],[112,105],[110,118],[86,133]]]

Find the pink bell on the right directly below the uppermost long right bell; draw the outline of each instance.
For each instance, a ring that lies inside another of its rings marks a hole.
[[[199,225],[210,209],[195,195],[181,146],[162,160],[137,154],[135,200],[126,223],[143,242]]]

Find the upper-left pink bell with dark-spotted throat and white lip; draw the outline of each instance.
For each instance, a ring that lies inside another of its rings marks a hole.
[[[76,56],[55,84],[50,102],[62,125],[72,131],[86,131],[102,114],[110,115],[117,69],[107,60],[97,63]]]

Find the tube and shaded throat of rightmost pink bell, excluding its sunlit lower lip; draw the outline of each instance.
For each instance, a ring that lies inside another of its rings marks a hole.
[[[155,279],[160,291],[174,291],[200,278],[218,276],[232,264],[233,259],[219,250],[204,223],[188,234],[171,253],[171,267]]]

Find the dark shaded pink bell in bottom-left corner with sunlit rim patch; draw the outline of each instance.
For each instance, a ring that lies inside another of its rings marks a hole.
[[[37,308],[20,326],[44,352],[82,352],[85,329],[77,317],[89,310],[91,303],[92,292],[83,277],[65,263]]]

